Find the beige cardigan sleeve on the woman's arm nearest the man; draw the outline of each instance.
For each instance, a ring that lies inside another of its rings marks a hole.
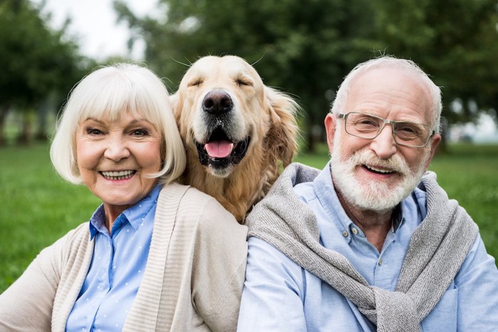
[[[214,198],[196,227],[192,300],[211,331],[235,331],[245,279],[248,228]]]

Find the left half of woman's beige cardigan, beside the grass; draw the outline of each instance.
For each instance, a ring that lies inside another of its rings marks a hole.
[[[0,331],[64,331],[90,264],[88,238],[88,223],[83,223],[41,250],[21,277],[0,294]],[[67,303],[61,308],[63,302]]]

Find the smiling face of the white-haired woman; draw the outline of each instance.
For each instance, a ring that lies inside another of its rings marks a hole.
[[[85,186],[102,200],[106,223],[147,196],[161,169],[161,133],[147,119],[85,119],[76,132],[76,160]]]

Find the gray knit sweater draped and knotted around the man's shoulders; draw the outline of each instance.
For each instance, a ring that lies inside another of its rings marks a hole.
[[[313,211],[294,193],[297,183],[319,171],[302,164],[285,168],[270,193],[253,208],[249,235],[265,240],[350,299],[378,331],[420,331],[455,278],[479,232],[456,200],[449,200],[427,172],[419,187],[427,193],[427,216],[413,232],[396,291],[370,286],[351,263],[319,243]]]

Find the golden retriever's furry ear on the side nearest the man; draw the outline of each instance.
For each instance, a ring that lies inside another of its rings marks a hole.
[[[271,156],[277,156],[285,167],[292,163],[297,154],[300,136],[297,114],[301,108],[292,97],[271,87],[265,87],[265,98],[271,122],[267,135],[267,152]]]

